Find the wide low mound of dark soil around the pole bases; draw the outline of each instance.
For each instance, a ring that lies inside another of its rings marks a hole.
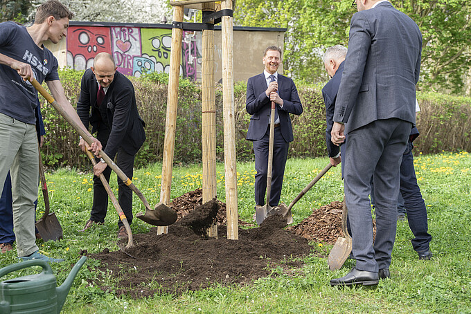
[[[213,213],[213,205],[205,210]],[[157,235],[157,228],[148,234],[134,234],[135,246],[127,250],[128,255],[105,249],[89,257],[102,261],[100,270],[112,270],[109,274],[119,280],[118,295],[139,298],[154,293],[180,294],[215,283],[248,284],[271,273],[267,264],[270,268],[301,266],[302,261],[292,258],[311,250],[308,240],[283,230],[286,221],[280,216],[270,216],[259,228],[239,229],[238,240],[226,239],[222,225],[217,231],[219,239],[203,237],[192,230],[194,222],[182,219],[168,228],[168,234]],[[151,288],[151,281],[160,288]]]

